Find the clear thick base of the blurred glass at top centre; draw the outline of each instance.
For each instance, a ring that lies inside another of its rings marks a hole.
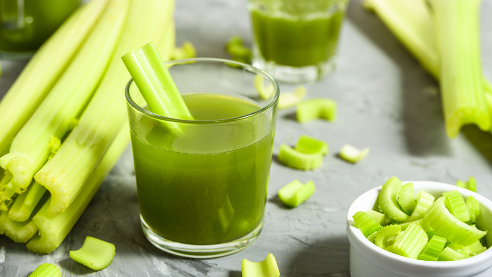
[[[294,67],[268,62],[256,57],[252,64],[254,67],[270,73],[276,81],[293,84],[314,83],[335,70],[335,58],[315,65]]]

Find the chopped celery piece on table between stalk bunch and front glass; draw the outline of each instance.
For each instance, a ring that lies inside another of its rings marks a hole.
[[[116,247],[112,243],[93,237],[86,237],[84,244],[78,250],[69,252],[72,260],[93,270],[107,268],[115,257]]]

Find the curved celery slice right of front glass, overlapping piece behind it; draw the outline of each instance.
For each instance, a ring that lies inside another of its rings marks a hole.
[[[302,153],[286,144],[281,144],[278,150],[278,160],[295,169],[314,170],[323,164],[323,155],[320,153]]]

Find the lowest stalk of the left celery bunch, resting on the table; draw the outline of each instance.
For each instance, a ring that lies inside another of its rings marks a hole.
[[[49,202],[43,205],[41,210],[33,217],[39,228],[39,234],[27,243],[26,246],[29,250],[44,254],[60,246],[129,143],[130,133],[128,127],[123,126],[99,165],[94,169],[89,179],[86,180],[81,192],[64,213],[49,216],[47,214]]]

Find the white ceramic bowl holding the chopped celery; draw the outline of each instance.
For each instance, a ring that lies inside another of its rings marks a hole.
[[[412,182],[415,192],[421,189],[436,198],[442,192],[458,190],[464,197],[472,195],[480,203],[481,213],[477,217],[477,226],[488,229],[487,241],[492,244],[492,202],[482,195],[458,187],[437,182]],[[375,187],[357,197],[347,212],[347,236],[350,242],[350,274],[352,277],[492,277],[492,248],[471,257],[458,261],[431,262],[403,257],[372,244],[362,232],[354,226],[352,215],[358,211],[367,211],[374,207],[381,186]]]

